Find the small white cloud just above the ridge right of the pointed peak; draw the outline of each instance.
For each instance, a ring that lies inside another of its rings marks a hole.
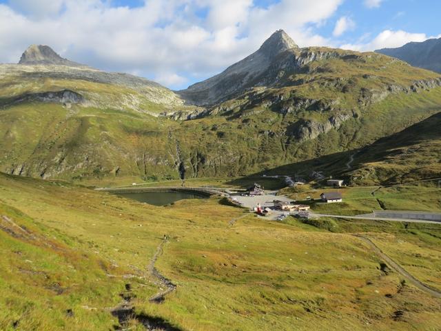
[[[384,30],[368,43],[346,44],[340,47],[349,50],[371,51],[380,48],[397,48],[411,41],[424,41],[429,38],[424,33]]]

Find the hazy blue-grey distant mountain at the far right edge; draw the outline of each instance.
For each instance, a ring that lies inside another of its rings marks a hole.
[[[441,73],[441,38],[429,39],[421,43],[407,43],[400,48],[383,48],[376,52],[396,57],[414,67]]]

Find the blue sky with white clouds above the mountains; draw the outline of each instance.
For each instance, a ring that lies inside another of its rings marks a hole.
[[[31,44],[174,90],[283,29],[300,47],[359,51],[441,37],[435,0],[0,0],[0,63]]]

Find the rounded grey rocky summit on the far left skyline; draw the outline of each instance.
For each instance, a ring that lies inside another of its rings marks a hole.
[[[19,64],[52,64],[57,66],[82,66],[79,63],[63,59],[52,48],[45,45],[31,45],[21,55]]]

